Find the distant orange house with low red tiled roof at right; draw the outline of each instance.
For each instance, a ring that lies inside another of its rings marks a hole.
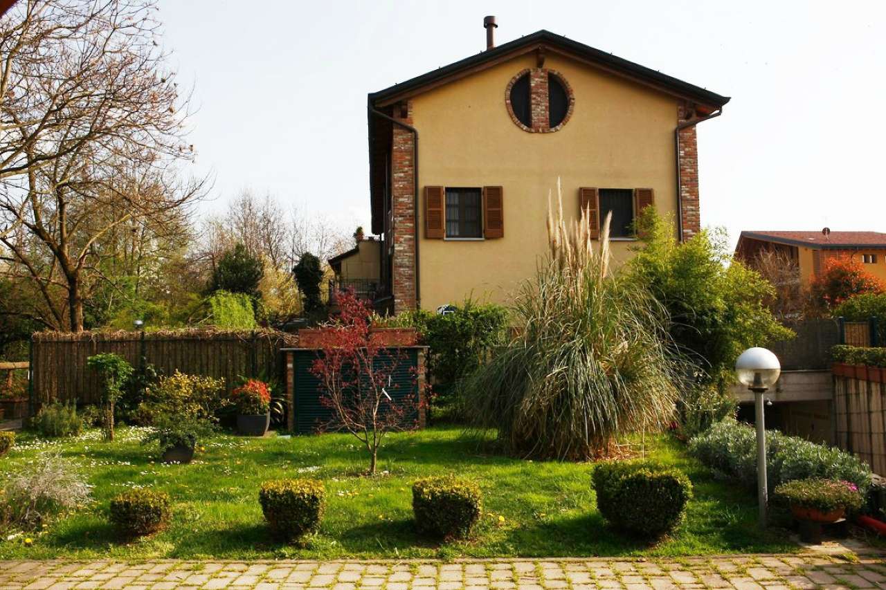
[[[760,252],[783,252],[797,260],[804,285],[832,258],[855,258],[886,280],[886,233],[879,231],[742,231],[735,257],[752,264]]]

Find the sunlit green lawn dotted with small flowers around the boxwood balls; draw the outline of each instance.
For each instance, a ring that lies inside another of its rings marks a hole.
[[[0,541],[0,559],[114,557],[228,559],[344,557],[457,557],[568,555],[712,555],[792,551],[777,532],[760,532],[752,494],[712,479],[682,444],[653,439],[652,456],[686,470],[696,497],[671,537],[645,545],[611,531],[596,511],[588,463],[530,462],[489,454],[483,440],[453,427],[391,435],[377,477],[363,477],[366,455],[348,435],[264,439],[218,436],[190,465],[156,461],[141,446],[142,431],[121,428],[105,443],[98,431],[45,441],[20,434],[0,459],[0,472],[33,462],[53,449],[74,459],[95,485],[89,508],[59,518],[42,534]],[[439,546],[419,537],[412,522],[410,485],[416,477],[456,473],[476,478],[484,515],[473,538]],[[321,531],[306,547],[269,540],[257,500],[260,482],[275,477],[319,477],[328,503]],[[106,524],[114,494],[154,486],[174,501],[166,531],[121,544]]]

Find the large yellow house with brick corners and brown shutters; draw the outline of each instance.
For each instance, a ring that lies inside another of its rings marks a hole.
[[[675,237],[699,230],[695,126],[728,97],[545,30],[496,46],[485,26],[486,50],[369,94],[379,309],[509,301],[548,252],[557,178],[592,233],[612,213],[616,260],[645,206]]]

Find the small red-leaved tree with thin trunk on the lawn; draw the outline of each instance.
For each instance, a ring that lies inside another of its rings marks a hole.
[[[350,432],[369,453],[369,475],[376,473],[378,448],[391,431],[412,430],[421,410],[418,396],[400,394],[393,376],[405,355],[385,348],[369,330],[371,310],[354,291],[336,294],[341,312],[328,327],[323,349],[311,367],[320,380],[323,405],[333,418],[324,430]],[[409,367],[413,379],[416,367]]]

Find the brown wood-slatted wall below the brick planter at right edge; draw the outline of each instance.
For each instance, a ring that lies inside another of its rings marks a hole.
[[[886,473],[886,369],[835,363],[836,444]]]

